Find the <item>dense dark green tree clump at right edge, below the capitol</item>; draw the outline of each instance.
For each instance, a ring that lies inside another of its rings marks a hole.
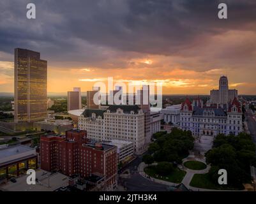
[[[216,136],[213,149],[206,153],[206,162],[211,163],[209,177],[217,182],[218,170],[227,170],[228,184],[241,186],[250,180],[250,166],[256,166],[255,145],[250,135]]]

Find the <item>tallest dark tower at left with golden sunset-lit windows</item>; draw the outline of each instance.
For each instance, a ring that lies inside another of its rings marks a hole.
[[[33,122],[47,116],[47,61],[40,53],[15,48],[14,119]]]

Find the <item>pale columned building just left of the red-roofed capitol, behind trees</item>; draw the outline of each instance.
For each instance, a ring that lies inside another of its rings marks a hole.
[[[181,104],[167,106],[161,110],[163,114],[163,121],[165,123],[171,122],[174,125],[179,124],[179,112],[181,110]]]

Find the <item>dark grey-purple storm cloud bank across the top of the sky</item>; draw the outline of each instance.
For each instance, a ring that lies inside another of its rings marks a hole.
[[[33,1],[36,20],[27,20],[31,1],[1,0],[0,51],[25,47],[47,59],[91,64],[121,57],[120,51],[186,55],[213,35],[255,31],[254,0],[223,2],[227,20],[217,18],[220,1],[205,0]]]

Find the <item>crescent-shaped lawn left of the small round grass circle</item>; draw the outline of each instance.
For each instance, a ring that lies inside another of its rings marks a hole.
[[[186,175],[186,171],[179,170],[179,168],[174,168],[174,170],[170,172],[169,175],[166,175],[166,176],[158,175],[156,173],[155,166],[148,166],[144,168],[144,171],[150,177],[154,177],[155,179],[160,179],[160,180],[166,180],[176,184],[181,183],[184,176]]]

